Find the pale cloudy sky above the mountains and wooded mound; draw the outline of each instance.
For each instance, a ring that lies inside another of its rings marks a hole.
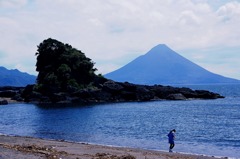
[[[240,0],[0,0],[0,66],[37,75],[53,38],[106,74],[166,44],[205,69],[240,79]]]

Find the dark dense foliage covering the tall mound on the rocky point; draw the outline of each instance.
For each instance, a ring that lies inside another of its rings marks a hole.
[[[69,87],[85,87],[96,78],[91,59],[69,44],[46,39],[38,46],[36,56],[37,84],[41,88],[66,91]]]

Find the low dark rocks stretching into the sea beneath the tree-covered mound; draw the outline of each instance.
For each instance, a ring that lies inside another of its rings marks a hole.
[[[128,82],[107,80],[94,88],[79,89],[71,92],[51,92],[41,94],[34,91],[35,85],[26,87],[0,87],[0,105],[8,104],[11,99],[29,103],[104,103],[152,100],[189,100],[224,98],[218,93],[207,90],[192,90],[186,87],[163,85],[137,85]],[[2,98],[2,99],[1,99]]]

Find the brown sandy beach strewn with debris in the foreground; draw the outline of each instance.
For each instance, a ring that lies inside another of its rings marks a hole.
[[[0,158],[25,159],[216,159],[219,157],[169,153],[0,134]],[[227,157],[222,157],[227,159]]]

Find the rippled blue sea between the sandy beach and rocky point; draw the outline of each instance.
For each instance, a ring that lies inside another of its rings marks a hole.
[[[178,86],[182,87],[182,86]],[[240,158],[240,84],[188,85],[225,98],[91,105],[0,106],[0,134]]]

